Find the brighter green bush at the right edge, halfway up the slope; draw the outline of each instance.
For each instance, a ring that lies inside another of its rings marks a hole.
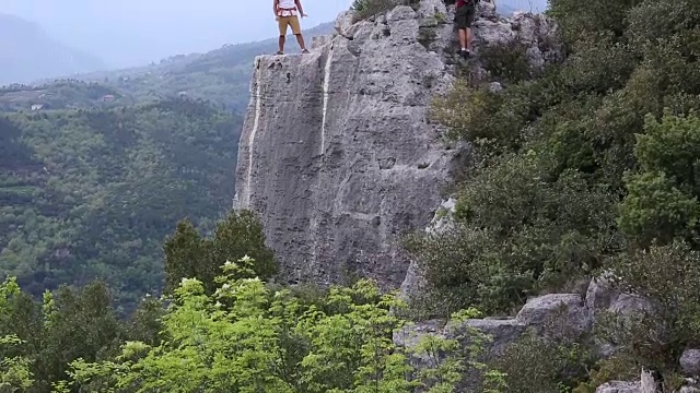
[[[634,154],[640,170],[626,178],[622,230],[642,246],[700,235],[700,118],[646,117]]]

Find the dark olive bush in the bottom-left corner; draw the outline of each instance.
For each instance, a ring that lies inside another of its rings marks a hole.
[[[47,392],[67,377],[70,361],[108,358],[122,337],[104,283],[61,287],[47,293],[43,303],[21,291],[13,277],[0,283],[3,392]]]

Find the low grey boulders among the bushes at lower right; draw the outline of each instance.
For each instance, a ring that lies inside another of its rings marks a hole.
[[[451,206],[450,201],[443,203],[443,206]],[[428,230],[433,231],[438,222],[435,219]],[[448,226],[450,223],[443,223],[442,225]],[[411,265],[411,269],[415,269],[415,266]],[[409,278],[420,281],[419,275],[411,276],[409,274],[407,282]],[[405,283],[405,286],[410,285]],[[627,318],[637,312],[651,310],[651,305],[648,300],[616,291],[605,276],[593,279],[588,284],[586,294],[585,298],[580,294],[549,294],[534,297],[523,306],[514,318],[470,319],[457,324],[439,320],[417,322],[396,333],[394,341],[398,345],[412,346],[424,335],[468,340],[470,333],[466,329],[475,327],[491,337],[491,342],[483,348],[483,359],[487,360],[502,355],[511,344],[521,338],[528,330],[547,340],[575,338],[582,334],[590,333],[594,327],[595,318],[600,318],[603,311]],[[606,343],[596,344],[597,346],[606,345]],[[608,352],[608,355],[612,349]],[[684,352],[680,358],[680,366],[688,376],[700,374],[700,371],[698,371],[700,370],[700,350],[687,349]],[[478,378],[478,371],[467,371],[465,381],[468,389],[464,391],[476,391]],[[655,392],[654,385],[655,382],[651,373],[644,371],[639,381],[612,381],[599,386],[596,393],[653,393]]]

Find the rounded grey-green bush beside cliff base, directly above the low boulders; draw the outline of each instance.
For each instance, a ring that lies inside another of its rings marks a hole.
[[[615,200],[575,172],[548,179],[540,157],[509,155],[479,169],[456,206],[456,228],[410,238],[447,312],[509,311],[527,296],[592,273],[618,250]]]

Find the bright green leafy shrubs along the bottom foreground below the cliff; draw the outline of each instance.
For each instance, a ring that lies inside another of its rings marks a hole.
[[[477,360],[488,340],[477,331],[399,345],[393,334],[406,321],[390,310],[404,305],[372,282],[308,302],[265,284],[255,265],[249,257],[226,261],[211,295],[183,278],[166,308],[147,298],[126,322],[101,283],[61,287],[42,305],[5,281],[0,344],[24,345],[2,352],[3,391],[440,393],[454,392],[469,369],[487,376],[485,392],[503,386],[502,374]],[[475,315],[464,310],[453,322]],[[472,345],[463,348],[464,340]]]

